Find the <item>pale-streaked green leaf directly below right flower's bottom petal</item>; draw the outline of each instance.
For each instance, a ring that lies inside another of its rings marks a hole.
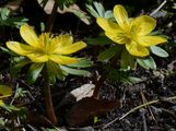
[[[149,69],[156,70],[156,63],[152,57],[137,58],[137,62],[146,70]]]

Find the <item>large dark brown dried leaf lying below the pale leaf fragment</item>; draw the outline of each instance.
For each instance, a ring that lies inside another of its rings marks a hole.
[[[99,117],[107,111],[119,107],[119,100],[105,100],[85,97],[79,100],[71,108],[66,119],[70,127],[83,126],[95,116]]]

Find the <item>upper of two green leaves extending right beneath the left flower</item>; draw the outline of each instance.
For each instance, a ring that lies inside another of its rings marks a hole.
[[[78,63],[67,64],[67,67],[71,67],[71,68],[89,68],[92,64],[93,64],[93,62],[91,60],[81,59]]]

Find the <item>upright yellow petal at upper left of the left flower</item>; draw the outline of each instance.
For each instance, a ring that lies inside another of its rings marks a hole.
[[[24,24],[20,27],[20,34],[22,38],[31,46],[38,48],[38,37],[35,34],[33,27],[31,27],[28,24]]]

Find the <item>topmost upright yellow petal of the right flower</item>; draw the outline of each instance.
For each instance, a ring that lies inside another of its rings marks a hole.
[[[114,16],[117,21],[117,23],[119,24],[119,26],[125,29],[128,31],[129,29],[129,19],[128,19],[128,13],[126,11],[126,9],[120,5],[117,4],[114,8]]]

